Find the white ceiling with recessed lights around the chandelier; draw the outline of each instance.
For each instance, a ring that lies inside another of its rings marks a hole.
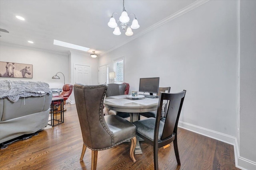
[[[193,2],[125,0],[127,13],[134,13],[140,24],[128,37],[124,32],[114,35],[107,25],[113,12],[122,13],[122,0],[0,0],[0,28],[9,31],[0,32],[0,42],[68,53],[69,48],[53,45],[56,39],[104,54]]]

